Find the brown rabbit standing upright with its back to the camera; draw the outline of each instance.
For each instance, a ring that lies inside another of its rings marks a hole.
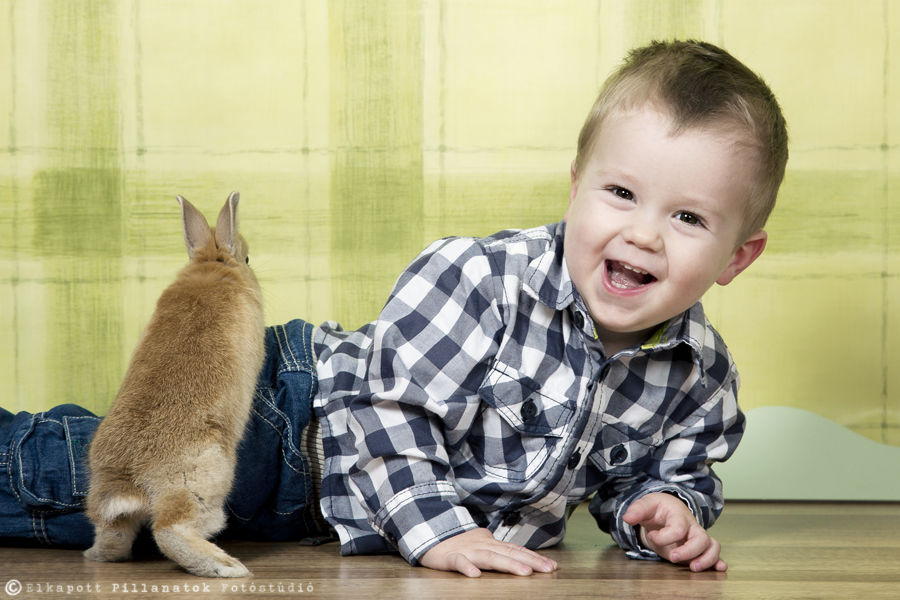
[[[190,262],[162,294],[90,446],[87,515],[97,561],[131,558],[149,523],[160,550],[201,577],[250,572],[208,538],[223,504],[264,355],[262,296],[238,234],[239,195],[210,229],[178,196]]]

